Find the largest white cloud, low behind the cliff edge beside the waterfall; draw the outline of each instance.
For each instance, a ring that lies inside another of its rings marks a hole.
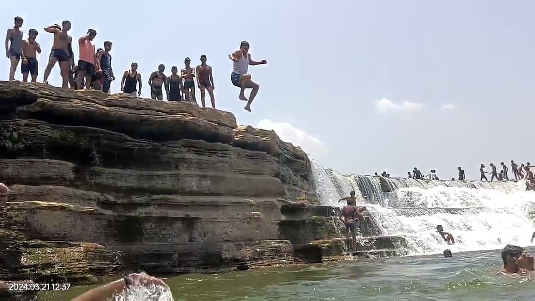
[[[256,127],[274,130],[282,141],[292,142],[295,146],[301,146],[306,153],[312,156],[317,157],[327,152],[327,148],[318,138],[294,127],[289,122],[263,119],[258,122]]]

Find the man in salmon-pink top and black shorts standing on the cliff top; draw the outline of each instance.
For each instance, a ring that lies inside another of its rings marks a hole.
[[[78,89],[83,89],[82,78],[86,78],[86,89],[91,89],[91,82],[93,74],[96,72],[96,52],[93,40],[97,36],[95,29],[88,29],[85,36],[78,39],[78,46],[80,47],[78,60],[78,82],[76,85]]]

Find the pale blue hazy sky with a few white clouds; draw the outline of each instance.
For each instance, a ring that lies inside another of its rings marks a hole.
[[[535,162],[533,1],[141,3],[108,0],[85,12],[78,1],[2,0],[0,20],[7,29],[23,17],[25,37],[39,31],[38,81],[52,45],[43,28],[63,20],[72,21],[74,41],[94,28],[97,47],[113,42],[116,74],[136,61],[142,97],[158,64],[169,74],[205,54],[218,109],[276,130],[341,173],[405,176],[418,167],[450,179],[461,166],[476,179],[482,163]],[[230,81],[227,55],[242,40],[254,60],[268,61],[249,67],[261,85],[252,113]],[[5,57],[0,70],[7,80]],[[49,81],[60,85],[58,66]],[[120,76],[111,89],[120,92]]]

